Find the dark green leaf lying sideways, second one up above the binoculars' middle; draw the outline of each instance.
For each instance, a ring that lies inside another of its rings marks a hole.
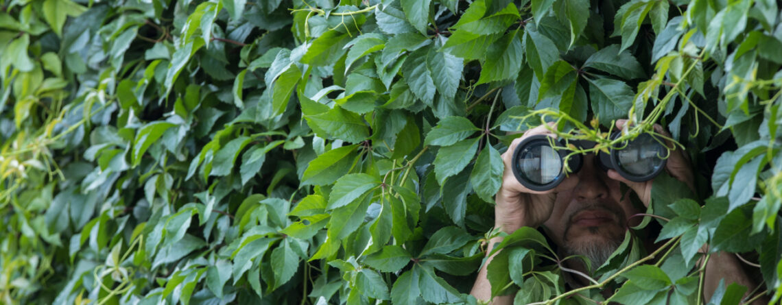
[[[609,45],[595,52],[583,64],[618,77],[632,79],[645,77],[644,69],[630,52],[619,52],[619,45]]]

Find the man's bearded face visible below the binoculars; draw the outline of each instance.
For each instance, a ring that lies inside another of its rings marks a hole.
[[[630,196],[622,198],[619,181],[595,165],[593,154],[583,161],[581,170],[563,181],[565,189],[543,226],[566,255],[584,255],[599,267],[624,239],[627,218],[640,211]]]

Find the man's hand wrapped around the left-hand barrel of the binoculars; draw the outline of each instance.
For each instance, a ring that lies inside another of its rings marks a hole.
[[[502,175],[502,186],[494,198],[497,203],[494,206],[494,226],[506,233],[512,233],[525,226],[536,228],[543,224],[551,216],[557,192],[561,189],[572,188],[576,182],[572,178],[575,175],[572,175],[565,178],[565,181],[562,181],[556,188],[540,192],[526,188],[513,175],[513,152],[515,152],[518,143],[531,135],[549,135],[556,138],[556,135],[548,129],[556,128],[556,123],[550,122],[547,125],[529,129],[522,137],[513,140],[508,151],[502,154],[505,170]]]

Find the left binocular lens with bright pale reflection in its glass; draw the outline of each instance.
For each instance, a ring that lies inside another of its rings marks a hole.
[[[538,185],[554,181],[562,170],[559,154],[549,145],[527,146],[519,154],[522,174]]]

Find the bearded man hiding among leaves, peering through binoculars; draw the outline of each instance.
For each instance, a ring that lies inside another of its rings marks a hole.
[[[621,129],[625,123],[626,120],[618,120],[616,127]],[[526,131],[521,138],[515,139],[508,151],[502,155],[505,170],[502,187],[495,198],[495,228],[512,233],[524,226],[542,227],[564,255],[583,255],[589,258],[594,266],[600,266],[624,239],[628,217],[643,213],[633,206],[630,196],[623,196],[626,194],[621,193],[620,182],[629,186],[640,201],[648,206],[652,181],[632,182],[622,178],[615,170],[605,172],[597,168],[594,155],[589,154],[584,157],[581,170],[570,174],[556,188],[544,192],[525,188],[516,180],[511,170],[513,152],[519,142],[531,135],[555,137],[550,131],[553,127],[554,123],[550,123],[548,126],[541,125]],[[655,125],[655,131],[665,134],[658,125]],[[671,151],[665,170],[673,178],[694,189],[692,170],[680,149]],[[640,221],[640,217],[631,221],[635,223],[630,225],[635,225]],[[492,239],[489,249],[501,240]],[[573,260],[568,262],[570,261]],[[486,278],[487,265],[483,264],[471,292],[482,301],[490,300],[491,297],[491,286]],[[589,273],[581,264],[568,267]],[[748,286],[748,292],[755,288],[752,280],[742,270],[741,262],[730,253],[712,254],[705,272],[706,300],[717,289],[721,278],[725,278],[726,285],[737,282]],[[583,278],[570,278],[571,287],[588,285]],[[491,301],[493,304],[511,304],[513,296],[497,296]]]

